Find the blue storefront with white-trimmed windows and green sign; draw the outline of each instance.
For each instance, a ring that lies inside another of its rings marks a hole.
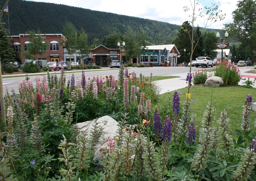
[[[161,66],[161,62],[167,60],[168,50],[163,47],[161,49],[146,49],[140,53],[140,63],[153,63],[154,66]]]

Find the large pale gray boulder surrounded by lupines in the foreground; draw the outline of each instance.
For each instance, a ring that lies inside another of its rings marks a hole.
[[[102,153],[100,152],[101,148],[104,148],[105,146],[108,146],[108,138],[114,138],[117,135],[117,131],[119,129],[119,126],[117,126],[118,122],[115,121],[110,116],[103,116],[101,118],[98,118],[98,126],[103,126],[104,129],[102,131],[102,135],[99,139],[98,144],[95,146],[94,159],[97,159],[99,161],[102,160]],[[106,125],[104,125],[106,123]],[[79,129],[81,131],[85,131],[88,134],[88,140],[91,139],[90,131],[93,130],[94,120],[92,121],[86,121],[82,123],[77,123]]]

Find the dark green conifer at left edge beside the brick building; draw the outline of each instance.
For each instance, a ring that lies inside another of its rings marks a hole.
[[[4,25],[5,23],[0,22],[0,58],[2,66],[15,59],[13,45],[8,40],[9,31],[4,28]]]

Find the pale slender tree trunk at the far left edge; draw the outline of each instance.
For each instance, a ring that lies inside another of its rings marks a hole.
[[[2,119],[0,122],[0,133],[6,131],[6,117],[5,117],[5,104],[4,104],[4,92],[3,92],[3,80],[2,80],[2,70],[1,70],[1,58],[0,58],[0,103],[1,103],[1,113]]]

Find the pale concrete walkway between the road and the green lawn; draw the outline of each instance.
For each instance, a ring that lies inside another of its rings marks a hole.
[[[248,80],[248,77],[250,77],[250,80],[254,81],[256,74],[245,73],[251,69],[253,69],[253,67],[239,67],[239,70],[241,72],[240,76],[245,77],[246,80]],[[207,72],[207,73],[209,74],[211,72]],[[187,73],[169,74],[166,76],[180,76],[180,77],[174,78],[174,79],[165,79],[165,80],[158,81],[158,85],[162,88],[160,94],[164,94],[166,92],[173,91],[173,90],[178,90],[178,89],[181,89],[181,88],[184,88],[187,86],[187,83],[186,83]],[[240,82],[238,84],[244,85],[243,82],[246,80],[240,80]],[[256,85],[254,85],[253,87],[256,88]]]

